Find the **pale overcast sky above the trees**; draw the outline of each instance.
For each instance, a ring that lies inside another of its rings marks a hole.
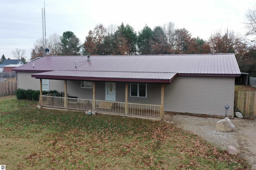
[[[192,37],[208,39],[218,30],[244,34],[244,15],[255,0],[0,0],[0,57],[14,59],[12,50],[25,49],[30,58],[34,41],[42,37],[45,2],[46,37],[74,32],[81,43],[102,23],[129,24],[136,32],[170,21]]]

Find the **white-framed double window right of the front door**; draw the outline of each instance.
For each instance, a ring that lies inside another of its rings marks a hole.
[[[146,83],[131,83],[130,84],[131,97],[147,97],[147,84]]]

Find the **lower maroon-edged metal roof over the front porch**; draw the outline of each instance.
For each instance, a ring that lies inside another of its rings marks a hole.
[[[115,82],[170,83],[177,73],[160,72],[106,72],[106,71],[49,71],[31,74],[35,78],[56,80],[90,80]]]

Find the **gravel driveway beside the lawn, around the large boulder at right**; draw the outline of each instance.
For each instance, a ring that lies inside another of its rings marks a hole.
[[[252,169],[256,170],[256,119],[230,119],[236,127],[232,132],[216,131],[216,123],[219,120],[221,119],[213,117],[174,115],[170,123],[202,136],[216,147],[226,150],[229,145],[236,147],[238,155],[246,158],[252,164]]]

